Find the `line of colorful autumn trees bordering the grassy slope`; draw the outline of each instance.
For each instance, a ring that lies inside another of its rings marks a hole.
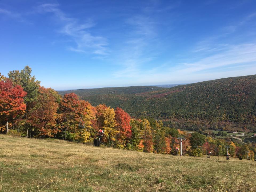
[[[22,137],[56,138],[92,143],[102,129],[106,146],[134,151],[178,154],[183,135],[183,154],[201,156],[225,155],[229,145],[231,156],[247,153],[254,159],[255,143],[242,145],[230,139],[219,139],[201,133],[187,134],[180,129],[164,126],[150,117],[131,118],[120,107],[115,109],[99,104],[92,106],[74,93],[63,97],[51,88],[40,86],[31,76],[31,68],[0,73],[0,132]]]

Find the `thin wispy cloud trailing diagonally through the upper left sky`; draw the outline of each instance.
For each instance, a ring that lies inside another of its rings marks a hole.
[[[61,33],[71,37],[75,42],[75,47],[69,47],[71,51],[79,53],[91,53],[95,55],[107,55],[107,39],[102,36],[93,35],[90,28],[95,26],[91,19],[82,23],[78,19],[68,17],[60,8],[59,4],[42,4],[37,7],[39,13],[53,13],[62,23]]]

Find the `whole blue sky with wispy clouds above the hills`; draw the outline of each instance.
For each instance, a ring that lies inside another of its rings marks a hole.
[[[256,74],[256,1],[0,1],[0,72],[57,90]]]

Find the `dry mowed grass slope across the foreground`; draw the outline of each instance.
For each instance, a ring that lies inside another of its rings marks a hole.
[[[256,161],[0,135],[0,191],[256,191]]]

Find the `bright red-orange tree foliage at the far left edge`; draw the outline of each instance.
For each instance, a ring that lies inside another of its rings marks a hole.
[[[9,79],[0,81],[0,119],[2,122],[12,121],[25,112],[26,104],[23,102],[23,97],[26,94],[20,85],[13,86]]]

